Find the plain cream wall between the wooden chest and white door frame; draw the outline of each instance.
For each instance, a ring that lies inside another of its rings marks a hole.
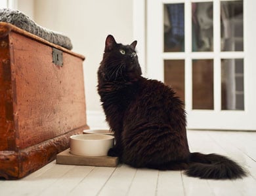
[[[73,51],[86,57],[83,65],[87,111],[101,111],[96,72],[104,42],[108,34],[114,35],[117,42],[132,42],[133,1],[34,0],[33,7],[37,24],[70,37]]]

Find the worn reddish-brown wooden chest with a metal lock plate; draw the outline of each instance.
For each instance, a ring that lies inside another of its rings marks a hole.
[[[0,178],[43,167],[89,128],[84,59],[0,22]]]

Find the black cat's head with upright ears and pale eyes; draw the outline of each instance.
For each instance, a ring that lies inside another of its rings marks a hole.
[[[106,81],[137,80],[142,74],[135,51],[137,41],[129,45],[119,44],[112,35],[108,35],[98,76]]]

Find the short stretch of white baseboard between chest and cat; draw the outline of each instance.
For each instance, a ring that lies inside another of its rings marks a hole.
[[[91,129],[109,129],[103,111],[87,110],[87,124]]]

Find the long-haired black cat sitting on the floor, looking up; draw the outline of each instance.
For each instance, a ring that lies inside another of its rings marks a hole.
[[[199,178],[245,176],[227,157],[190,153],[183,103],[169,86],[141,76],[136,44],[118,44],[108,35],[98,69],[98,93],[116,137],[108,155],[133,167],[182,169]]]

